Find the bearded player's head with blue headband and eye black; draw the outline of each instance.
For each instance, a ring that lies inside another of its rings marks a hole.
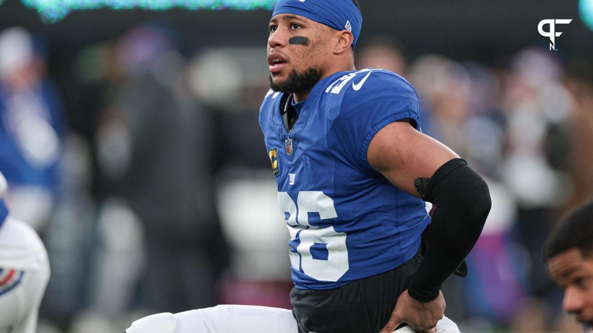
[[[270,88],[307,91],[321,79],[354,69],[361,33],[358,0],[280,0],[270,20]]]

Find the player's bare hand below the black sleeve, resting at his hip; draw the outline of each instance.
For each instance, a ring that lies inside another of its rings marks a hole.
[[[380,333],[391,333],[404,322],[420,333],[435,333],[436,323],[445,313],[445,298],[439,292],[439,297],[431,302],[420,302],[410,296],[405,290],[397,299],[396,308],[391,312],[391,318]]]

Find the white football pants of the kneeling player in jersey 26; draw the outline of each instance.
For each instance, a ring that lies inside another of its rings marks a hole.
[[[339,319],[336,319],[339,320]],[[298,333],[291,310],[249,305],[219,305],[214,308],[158,313],[132,323],[126,333]],[[409,326],[397,333],[413,333]],[[315,333],[315,332],[310,332]],[[323,332],[327,333],[327,332]],[[339,332],[332,332],[339,333]],[[436,333],[459,333],[451,319],[444,317]]]

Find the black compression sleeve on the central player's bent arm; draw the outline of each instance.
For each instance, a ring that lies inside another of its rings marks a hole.
[[[430,302],[476,244],[492,203],[486,182],[461,158],[436,170],[428,182],[425,201],[435,204],[436,210],[426,254],[408,293]]]

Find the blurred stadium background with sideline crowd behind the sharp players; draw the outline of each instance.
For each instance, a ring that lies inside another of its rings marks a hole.
[[[468,277],[444,287],[449,318],[464,332],[578,332],[541,245],[593,194],[593,1],[360,2],[357,68],[409,79],[423,131],[490,185]],[[0,171],[52,264],[39,332],[291,308],[257,121],[274,3],[0,0]],[[544,19],[573,20],[557,51]]]

